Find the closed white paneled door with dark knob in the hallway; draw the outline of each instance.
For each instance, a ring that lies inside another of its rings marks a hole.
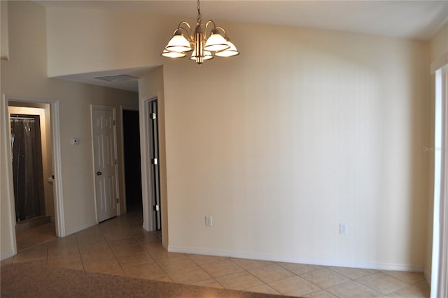
[[[115,108],[92,106],[92,137],[97,220],[102,222],[117,215]]]

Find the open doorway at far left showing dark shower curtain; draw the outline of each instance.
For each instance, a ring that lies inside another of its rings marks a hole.
[[[8,102],[18,250],[56,237],[50,104]]]

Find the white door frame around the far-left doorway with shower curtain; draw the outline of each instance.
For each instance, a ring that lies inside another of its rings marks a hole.
[[[55,229],[57,237],[66,236],[65,218],[64,218],[64,198],[62,195],[62,166],[61,166],[61,140],[59,130],[59,101],[53,99],[42,99],[33,97],[18,97],[13,95],[5,95],[1,97],[1,107],[3,111],[3,130],[0,132],[2,140],[5,140],[8,148],[8,156],[11,156],[11,144],[8,142],[10,137],[10,123],[8,115],[9,102],[30,102],[38,104],[50,104],[50,123],[51,123],[51,143],[52,143],[52,171],[55,177],[53,181],[53,194],[55,203]],[[7,163],[8,171],[7,192],[10,198],[9,213],[11,223],[11,235],[13,236],[13,255],[17,254],[17,244],[15,238],[15,202],[13,191],[13,165]]]

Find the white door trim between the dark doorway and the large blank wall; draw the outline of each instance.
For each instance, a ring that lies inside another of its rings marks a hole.
[[[140,115],[140,152],[141,152],[141,197],[143,205],[143,228],[146,231],[155,230],[154,212],[151,212],[153,202],[151,200],[151,156],[149,139],[149,102],[157,100],[157,93],[153,93],[148,99],[139,101]]]

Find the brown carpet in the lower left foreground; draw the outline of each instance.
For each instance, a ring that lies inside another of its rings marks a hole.
[[[277,298],[272,294],[181,285],[33,264],[1,266],[0,297]],[[283,296],[284,297],[284,296]]]

